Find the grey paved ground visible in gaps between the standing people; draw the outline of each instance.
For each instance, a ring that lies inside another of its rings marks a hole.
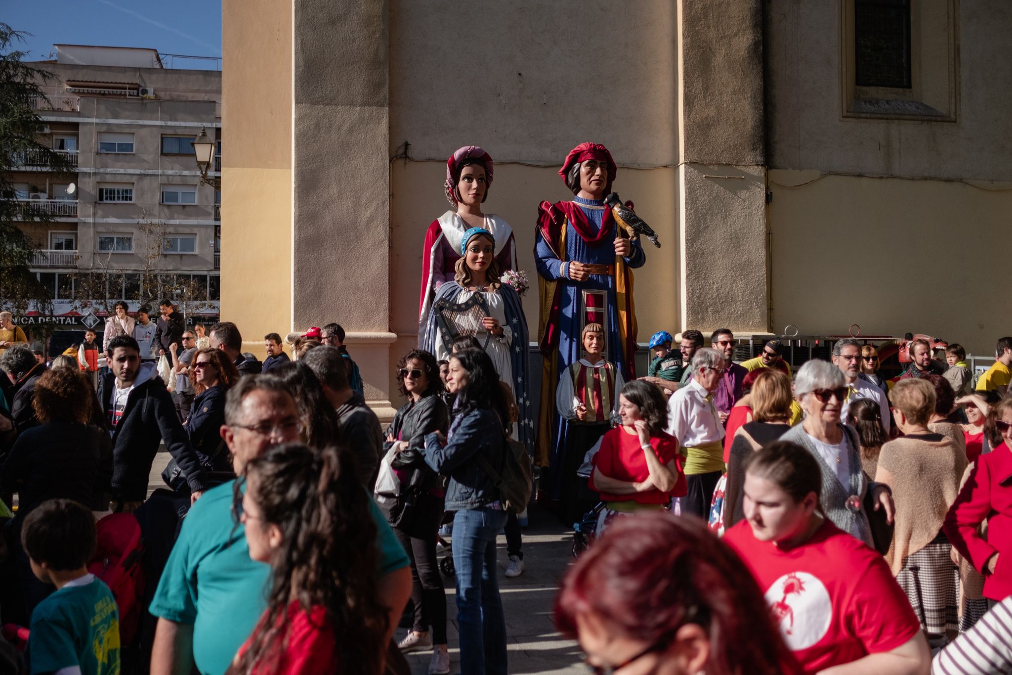
[[[169,460],[168,452],[159,452],[151,469],[149,493],[163,487],[161,473]],[[572,562],[570,547],[572,530],[563,527],[552,514],[532,506],[529,525],[523,529],[523,556],[526,569],[515,579],[503,574],[506,558],[506,537],[498,541],[499,587],[506,613],[508,670],[515,675],[575,675],[585,674],[582,654],[574,641],[565,640],[552,620],[552,606],[559,580]],[[441,554],[440,558],[448,556]],[[454,578],[444,577],[446,584],[447,638],[450,672],[459,673],[459,636],[456,627]],[[397,639],[406,630],[400,628]],[[411,672],[428,673],[432,652],[410,654]]]

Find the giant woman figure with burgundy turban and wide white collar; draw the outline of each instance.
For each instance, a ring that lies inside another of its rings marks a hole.
[[[425,233],[422,251],[422,292],[418,299],[418,346],[436,291],[456,274],[460,259],[460,239],[470,228],[487,230],[495,238],[496,262],[500,271],[515,269],[516,241],[513,228],[503,219],[482,212],[489,197],[494,165],[492,157],[478,146],[463,146],[446,160],[443,191],[452,208],[432,221]],[[498,280],[498,278],[496,279]]]

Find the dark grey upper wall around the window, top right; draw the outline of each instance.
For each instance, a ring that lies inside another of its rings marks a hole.
[[[841,116],[840,3],[764,3],[769,166],[940,178],[1012,178],[1012,3],[958,8],[956,122]],[[936,4],[938,0],[931,0]],[[919,4],[919,3],[915,3]]]

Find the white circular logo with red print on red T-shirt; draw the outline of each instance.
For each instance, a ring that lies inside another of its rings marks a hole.
[[[808,572],[791,572],[774,581],[766,590],[766,602],[780,626],[783,642],[793,652],[822,640],[833,621],[829,592]]]

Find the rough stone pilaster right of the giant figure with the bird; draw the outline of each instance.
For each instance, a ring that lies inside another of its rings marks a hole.
[[[765,331],[761,2],[679,0],[678,24],[681,325]]]

